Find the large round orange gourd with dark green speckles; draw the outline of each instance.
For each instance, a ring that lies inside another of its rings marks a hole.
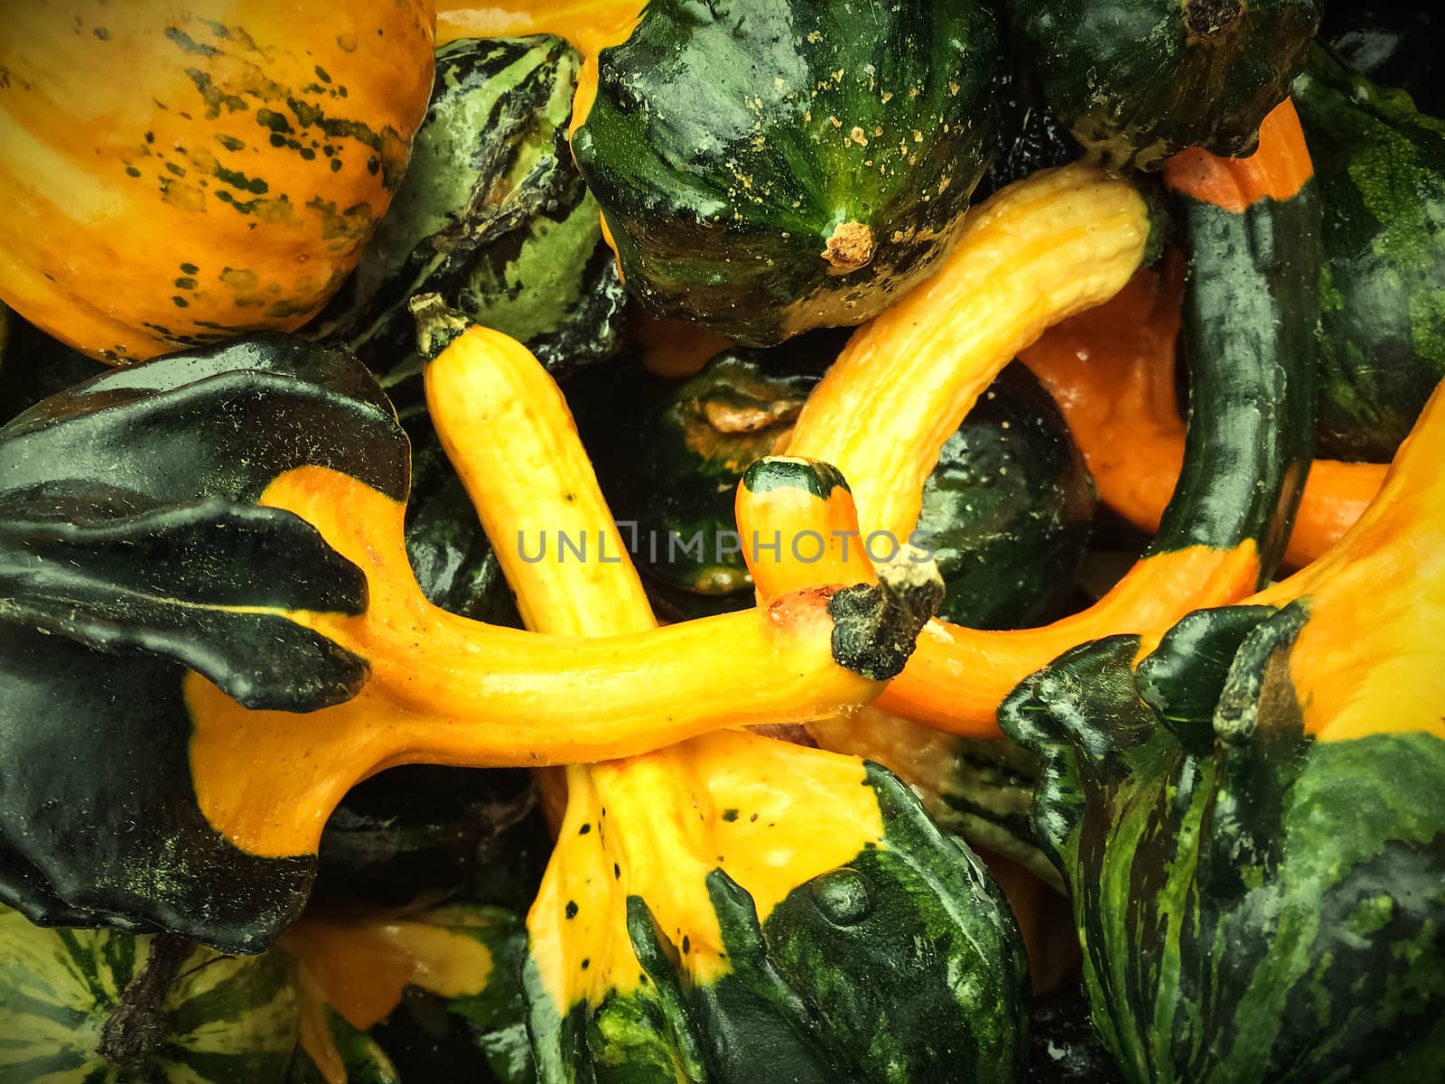
[[[402,181],[434,20],[429,0],[6,4],[0,298],[107,361],[299,327]]]

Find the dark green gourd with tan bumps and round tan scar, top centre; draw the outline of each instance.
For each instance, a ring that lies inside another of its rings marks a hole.
[[[572,136],[627,289],[746,345],[868,319],[968,207],[997,48],[975,0],[649,3]]]

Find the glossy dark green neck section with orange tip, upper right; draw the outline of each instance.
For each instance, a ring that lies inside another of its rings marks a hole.
[[[1303,158],[1293,172],[1279,171],[1267,192],[1241,189],[1237,169],[1202,150],[1165,171],[1188,251],[1189,423],[1183,468],[1150,549],[1253,546],[1260,582],[1285,552],[1314,455],[1319,312],[1318,186],[1289,106],[1279,108],[1272,132],[1295,133],[1280,139],[1279,156]]]

